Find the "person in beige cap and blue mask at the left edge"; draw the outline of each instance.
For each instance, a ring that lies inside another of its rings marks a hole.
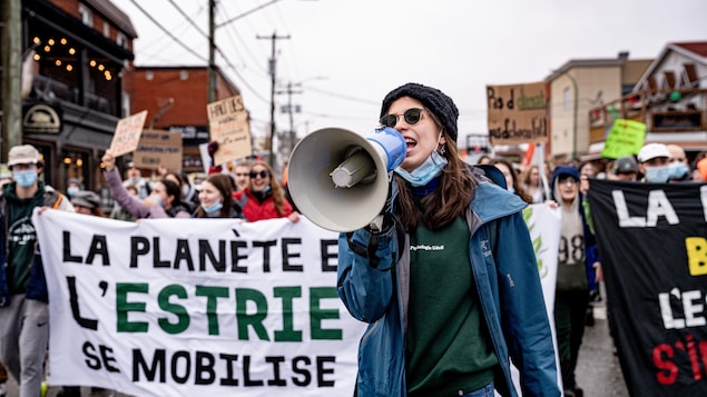
[[[10,148],[8,159],[12,181],[0,198],[0,363],[19,384],[21,396],[39,396],[49,338],[49,297],[31,217],[37,207],[73,212],[73,206],[39,180],[40,159],[33,146]]]

